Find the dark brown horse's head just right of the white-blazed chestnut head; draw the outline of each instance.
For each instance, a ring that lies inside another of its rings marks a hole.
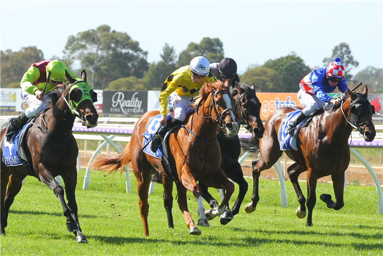
[[[236,100],[235,113],[238,116],[238,122],[251,132],[254,139],[261,139],[265,131],[259,116],[262,104],[257,98],[254,83],[251,87],[244,82],[237,84],[232,94]]]

